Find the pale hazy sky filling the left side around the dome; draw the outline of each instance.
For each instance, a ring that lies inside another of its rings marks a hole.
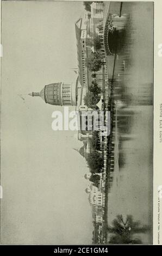
[[[63,108],[25,95],[76,80],[83,12],[82,2],[2,3],[2,243],[91,243],[88,168],[72,149],[82,143],[52,130]]]

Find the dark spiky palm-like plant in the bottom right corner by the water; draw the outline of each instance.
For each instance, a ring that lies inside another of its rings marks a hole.
[[[117,215],[113,221],[113,226],[108,227],[109,233],[114,235],[110,237],[109,243],[141,243],[141,240],[134,238],[137,233],[146,233],[149,230],[147,225],[140,225],[140,222],[133,221],[132,215],[127,215],[126,222],[122,215]]]

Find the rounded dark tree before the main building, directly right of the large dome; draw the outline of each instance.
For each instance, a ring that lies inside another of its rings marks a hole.
[[[100,100],[100,95],[98,94],[94,94],[92,92],[87,92],[86,95],[84,96],[84,104],[86,106],[88,106],[89,108],[92,109],[98,109],[96,104],[98,103],[98,101]]]

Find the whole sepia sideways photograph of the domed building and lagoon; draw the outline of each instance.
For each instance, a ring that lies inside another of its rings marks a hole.
[[[154,2],[2,1],[1,37],[1,244],[152,245]]]

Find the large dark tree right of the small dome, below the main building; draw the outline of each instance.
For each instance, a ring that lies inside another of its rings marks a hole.
[[[88,166],[92,173],[99,173],[104,165],[103,157],[97,151],[90,153],[87,157]]]

